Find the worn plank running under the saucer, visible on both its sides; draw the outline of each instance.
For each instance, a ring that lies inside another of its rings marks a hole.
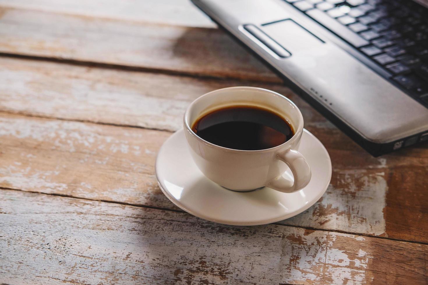
[[[156,153],[169,135],[3,114],[0,187],[178,209],[162,194],[154,176]],[[427,171],[426,151],[419,165],[416,159],[397,156],[388,167],[375,167],[377,159],[368,155],[371,165],[350,161],[363,152],[331,149],[330,154],[334,168],[327,193],[306,212],[281,223],[427,242],[428,201],[422,195],[427,190],[422,175]],[[344,157],[347,165],[341,164]],[[402,162],[408,166],[395,167]],[[397,177],[412,171],[421,180],[408,179],[388,191]],[[403,188],[406,191],[400,193]]]

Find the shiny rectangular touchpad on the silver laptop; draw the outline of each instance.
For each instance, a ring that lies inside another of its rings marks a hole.
[[[291,54],[324,43],[291,19],[263,24],[261,29]]]

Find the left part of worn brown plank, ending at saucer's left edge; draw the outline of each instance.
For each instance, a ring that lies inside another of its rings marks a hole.
[[[178,209],[154,175],[169,132],[18,116],[0,125],[1,187]]]

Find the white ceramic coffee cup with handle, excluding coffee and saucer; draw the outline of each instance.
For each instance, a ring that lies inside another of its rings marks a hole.
[[[266,150],[234,150],[205,141],[193,132],[192,124],[197,119],[226,106],[263,107],[285,118],[295,133],[285,143]],[[302,132],[303,116],[297,106],[281,94],[263,88],[211,91],[194,100],[184,114],[184,133],[194,162],[206,177],[235,191],[266,186],[291,193],[305,187],[311,179],[311,169],[297,151]],[[283,177],[287,166],[294,179]]]

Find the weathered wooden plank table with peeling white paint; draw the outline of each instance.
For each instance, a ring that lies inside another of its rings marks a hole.
[[[187,0],[0,0],[0,283],[427,284],[428,146],[374,158]],[[155,157],[217,88],[278,91],[331,184],[265,226],[187,214]]]

